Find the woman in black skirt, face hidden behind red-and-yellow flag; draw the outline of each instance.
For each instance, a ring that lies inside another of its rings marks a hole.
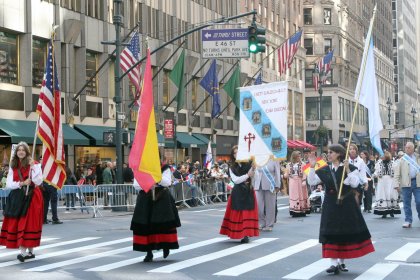
[[[168,189],[172,172],[168,164],[163,165],[161,170],[162,180],[154,189],[147,193],[140,191],[131,220],[133,250],[147,252],[144,262],[153,261],[152,250],[163,249],[163,257],[167,258],[171,249],[179,248],[176,228],[181,226],[181,221]],[[139,186],[136,180],[134,185]]]

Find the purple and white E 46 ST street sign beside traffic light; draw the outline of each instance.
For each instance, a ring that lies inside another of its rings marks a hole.
[[[203,29],[202,58],[249,57],[248,29]]]

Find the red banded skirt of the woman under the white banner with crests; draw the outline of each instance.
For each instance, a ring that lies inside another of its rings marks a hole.
[[[259,236],[258,230],[258,206],[254,193],[254,209],[252,210],[233,210],[231,198],[229,197],[226,206],[225,217],[220,228],[220,234],[227,235],[232,239],[242,239],[245,236]]]

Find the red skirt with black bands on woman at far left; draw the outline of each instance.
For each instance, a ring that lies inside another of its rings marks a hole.
[[[38,247],[41,244],[43,217],[44,199],[41,190],[35,188],[26,216],[4,217],[0,245],[6,246],[6,248]]]

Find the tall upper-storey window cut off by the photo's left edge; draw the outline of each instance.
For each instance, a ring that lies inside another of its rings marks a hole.
[[[0,31],[0,83],[18,84],[17,49],[17,36]]]

